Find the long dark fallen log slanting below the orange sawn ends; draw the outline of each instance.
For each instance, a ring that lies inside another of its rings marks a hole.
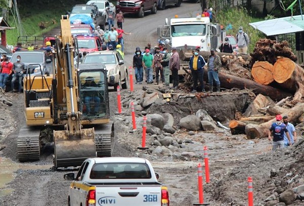
[[[239,88],[239,89],[251,89],[256,95],[257,94],[263,94],[265,96],[269,96],[273,100],[279,101],[287,96],[292,96],[292,94],[282,91],[280,89],[268,86],[268,85],[262,85],[258,84],[255,81],[235,77],[233,75],[225,74],[224,72],[219,72],[218,77],[220,80],[220,85],[222,88],[226,89],[233,89],[233,88]],[[208,73],[207,71],[204,72],[204,80],[208,82]]]

